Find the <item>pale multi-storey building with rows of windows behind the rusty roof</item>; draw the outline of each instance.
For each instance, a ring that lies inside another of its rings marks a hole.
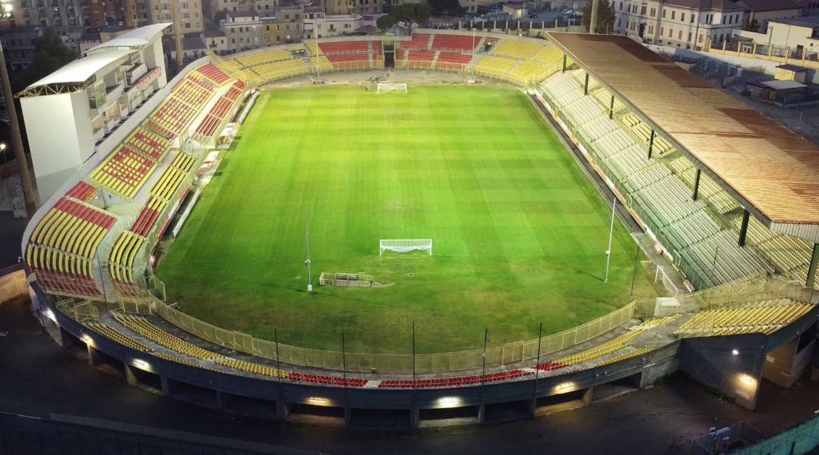
[[[605,0],[601,0],[605,1]],[[614,0],[614,32],[643,43],[702,49],[731,37],[744,8],[730,0]]]

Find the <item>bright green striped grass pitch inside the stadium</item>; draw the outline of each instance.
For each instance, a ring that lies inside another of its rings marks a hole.
[[[305,291],[304,211],[314,292]],[[359,87],[264,92],[161,259],[170,302],[291,345],[472,349],[554,333],[627,304],[636,245],[522,92]],[[432,238],[378,256],[380,238]],[[654,296],[637,267],[636,296]],[[321,272],[391,286],[317,286]],[[408,273],[414,273],[410,277]]]

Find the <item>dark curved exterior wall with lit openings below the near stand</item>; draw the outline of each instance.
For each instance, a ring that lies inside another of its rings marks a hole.
[[[196,403],[208,408],[223,408],[231,412],[242,410],[227,408],[225,405],[235,397],[253,400],[269,412],[263,417],[287,420],[289,409],[294,404],[313,404],[320,401],[320,406],[329,406],[343,410],[344,422],[354,426],[378,426],[378,419],[355,423],[355,413],[361,410],[369,412],[404,411],[406,425],[418,426],[419,410],[450,407],[477,408],[477,421],[488,422],[483,411],[486,407],[505,406],[508,403],[527,403],[528,412],[515,418],[533,417],[536,412],[536,399],[562,394],[566,391],[587,390],[619,381],[629,376],[636,376],[636,387],[650,385],[659,377],[676,371],[679,341],[641,357],[629,358],[618,363],[595,367],[560,376],[528,376],[527,380],[488,383],[442,389],[419,390],[386,390],[365,388],[344,388],[322,385],[308,385],[291,381],[261,379],[251,376],[229,374],[201,367],[191,367],[162,358],[153,357],[124,345],[117,344],[103,336],[98,336],[79,322],[58,311],[48,296],[34,285],[34,293],[41,302],[43,311],[50,310],[54,320],[43,318],[52,335],[58,333],[57,342],[64,347],[84,345],[83,339],[90,336],[93,340],[88,345],[88,356],[92,365],[114,359],[122,363],[122,372],[131,385],[141,384],[138,376],[150,372],[159,377],[161,393],[174,399]],[[100,353],[105,354],[101,356]],[[140,361],[140,362],[136,362]],[[147,363],[147,365],[145,364]],[[137,367],[139,365],[139,367]],[[137,370],[135,372],[135,370]],[[571,384],[569,390],[562,385]],[[144,385],[144,384],[143,384]],[[189,389],[196,389],[196,393]],[[455,401],[455,406],[452,404]],[[258,415],[257,412],[249,412]],[[359,419],[360,420],[360,419]]]

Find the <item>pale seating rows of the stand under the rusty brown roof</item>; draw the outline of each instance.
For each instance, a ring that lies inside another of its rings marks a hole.
[[[773,272],[772,265],[757,251],[738,245],[737,234],[711,214],[706,201],[691,199],[691,187],[681,175],[693,172],[693,167],[672,158],[675,151],[665,151],[667,159],[649,160],[647,145],[640,139],[645,133],[630,133],[628,129],[645,124],[631,113],[623,116],[625,121],[609,119],[609,106],[601,106],[595,97],[582,94],[584,79],[581,70],[555,73],[541,83],[541,89],[563,118],[576,125],[581,137],[589,142],[596,164],[617,182],[631,209],[658,235],[675,263],[684,268],[686,277],[698,287],[709,287],[752,273]],[[603,90],[596,83],[594,86]],[[693,177],[691,180],[693,186]],[[716,195],[717,191],[710,194]],[[714,196],[713,200],[717,197],[723,201],[718,205],[723,209],[735,205],[727,205],[722,196]]]

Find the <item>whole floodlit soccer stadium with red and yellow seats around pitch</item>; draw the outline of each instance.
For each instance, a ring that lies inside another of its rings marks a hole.
[[[17,95],[34,309],[130,385],[418,427],[677,371],[753,409],[812,358],[819,146],[640,43],[417,29],[167,79],[165,26]]]

